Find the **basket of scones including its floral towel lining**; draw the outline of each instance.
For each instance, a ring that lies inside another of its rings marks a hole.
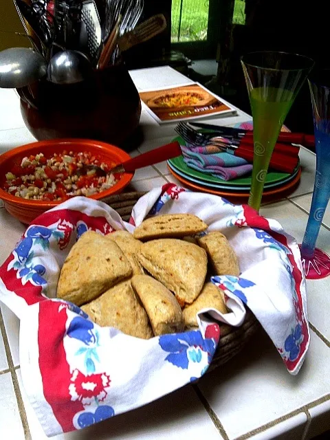
[[[289,373],[303,364],[305,278],[277,221],[174,184],[132,200],[61,203],[0,267],[0,300],[20,319],[23,385],[47,435],[195,382],[259,327]]]

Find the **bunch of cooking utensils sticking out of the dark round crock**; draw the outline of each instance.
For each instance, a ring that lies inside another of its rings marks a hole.
[[[163,14],[137,25],[144,0],[13,1],[33,50],[0,52],[0,87],[25,87],[44,77],[78,83],[166,28]]]

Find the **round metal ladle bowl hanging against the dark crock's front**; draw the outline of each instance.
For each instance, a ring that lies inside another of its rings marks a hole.
[[[76,50],[63,50],[52,56],[47,67],[47,79],[55,84],[80,83],[91,75],[89,58]]]

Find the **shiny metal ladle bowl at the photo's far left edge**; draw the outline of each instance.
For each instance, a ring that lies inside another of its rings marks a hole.
[[[0,87],[16,89],[45,76],[47,64],[38,52],[28,47],[10,47],[0,52]]]

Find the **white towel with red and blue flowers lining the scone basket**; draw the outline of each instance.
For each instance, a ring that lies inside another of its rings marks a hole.
[[[209,230],[228,236],[241,275],[210,278],[225,291],[228,314],[203,309],[199,330],[141,340],[99,327],[79,307],[56,299],[63,261],[86,230],[133,231],[146,215],[168,212],[197,214]],[[142,197],[129,223],[86,197],[42,214],[0,267],[0,300],[21,320],[23,385],[48,436],[91,426],[201,377],[221,338],[218,322],[240,326],[245,304],[290,373],[298,373],[309,347],[305,278],[292,236],[249,206],[174,184]]]

